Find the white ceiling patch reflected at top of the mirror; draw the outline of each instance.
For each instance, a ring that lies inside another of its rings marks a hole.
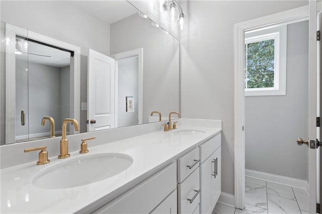
[[[75,7],[108,24],[120,21],[138,11],[125,0],[114,1],[70,1]]]

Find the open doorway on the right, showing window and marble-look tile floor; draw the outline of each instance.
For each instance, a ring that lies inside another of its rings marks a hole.
[[[308,105],[296,104],[308,102],[307,32],[306,20],[245,34],[247,210],[308,212],[308,154],[295,143],[308,139]]]

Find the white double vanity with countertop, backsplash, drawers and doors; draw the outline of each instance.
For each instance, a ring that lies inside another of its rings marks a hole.
[[[67,136],[66,159],[57,158],[58,137],[1,147],[1,213],[211,213],[221,193],[221,121],[179,119],[169,132],[161,124]],[[79,154],[87,137],[96,140]],[[49,146],[50,163],[23,152],[34,145]]]

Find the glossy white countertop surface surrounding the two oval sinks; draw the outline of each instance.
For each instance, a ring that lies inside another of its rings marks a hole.
[[[200,123],[196,124],[200,125]],[[45,165],[36,165],[36,162],[33,161],[5,168],[0,172],[0,212],[73,213],[94,211],[95,207],[111,201],[130,187],[175,162],[178,157],[192,148],[221,132],[221,126],[218,128],[209,125],[208,127],[190,126],[189,123],[187,125],[178,125],[178,130],[198,129],[205,133],[174,135],[172,131],[158,131],[91,147],[87,154],[79,154],[75,151],[71,152],[70,158],[66,159],[57,159],[57,156],[49,157],[50,163]],[[73,188],[42,189],[32,184],[34,175],[40,170],[65,160],[100,153],[127,154],[133,158],[133,164],[113,177]]]

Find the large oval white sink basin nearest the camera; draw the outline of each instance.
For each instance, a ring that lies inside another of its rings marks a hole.
[[[129,168],[133,159],[125,154],[102,153],[73,158],[35,175],[33,185],[44,189],[82,186],[107,179]]]

